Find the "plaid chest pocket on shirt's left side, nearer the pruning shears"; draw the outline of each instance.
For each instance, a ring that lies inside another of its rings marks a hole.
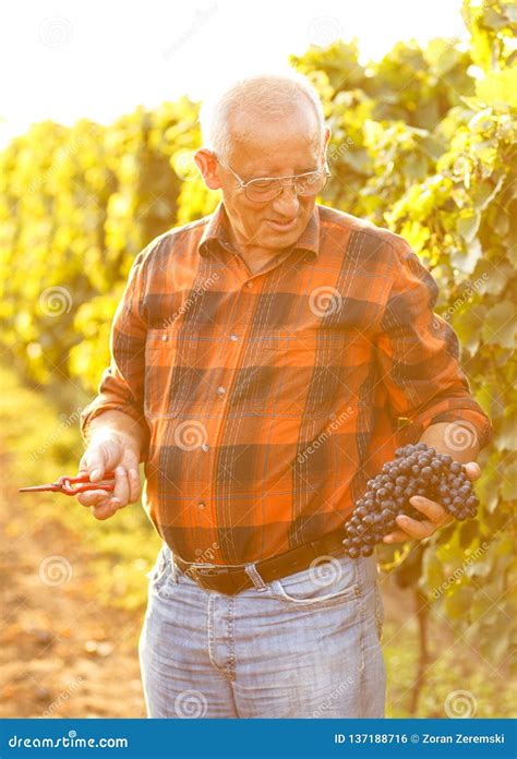
[[[145,342],[144,411],[173,419],[190,396],[196,341],[176,326],[149,329]]]

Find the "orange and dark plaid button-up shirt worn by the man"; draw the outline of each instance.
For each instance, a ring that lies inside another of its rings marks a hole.
[[[183,559],[282,553],[341,527],[432,422],[492,438],[436,297],[404,238],[320,205],[252,275],[220,204],[137,255],[83,433],[108,409],[142,425],[144,505]]]

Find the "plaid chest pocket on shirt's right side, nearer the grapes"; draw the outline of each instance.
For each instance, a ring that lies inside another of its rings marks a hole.
[[[254,415],[318,419],[339,393],[344,338],[318,330],[256,338],[250,407]]]

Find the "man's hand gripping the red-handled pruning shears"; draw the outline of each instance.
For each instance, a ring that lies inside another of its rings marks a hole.
[[[79,473],[88,473],[92,482],[100,482],[106,472],[115,471],[112,493],[94,490],[77,493],[82,506],[92,509],[96,519],[109,519],[119,508],[133,504],[140,498],[141,482],[139,472],[139,447],[116,432],[94,436],[83,454]]]

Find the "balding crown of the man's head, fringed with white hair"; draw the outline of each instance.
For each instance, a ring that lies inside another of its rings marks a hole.
[[[320,144],[325,129],[316,91],[294,73],[235,82],[203,104],[200,121],[204,144],[226,160],[231,159],[237,144],[263,141],[286,121],[303,124],[308,140]]]

